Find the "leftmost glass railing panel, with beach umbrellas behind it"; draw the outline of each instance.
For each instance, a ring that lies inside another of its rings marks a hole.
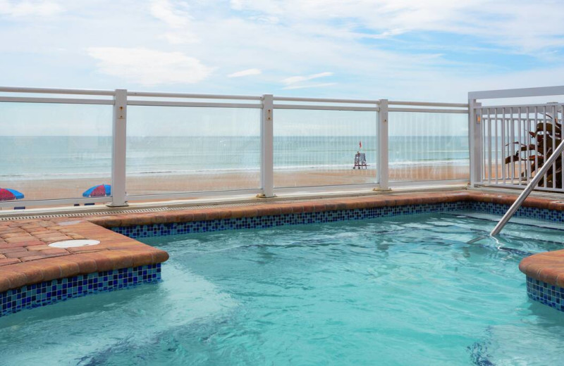
[[[0,188],[22,193],[25,206],[111,184],[111,113],[104,105],[0,103]]]

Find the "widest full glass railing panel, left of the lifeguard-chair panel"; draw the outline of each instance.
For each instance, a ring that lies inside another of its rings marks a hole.
[[[258,189],[260,109],[128,106],[128,196]]]

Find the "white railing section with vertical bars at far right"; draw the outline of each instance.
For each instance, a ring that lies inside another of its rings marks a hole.
[[[470,99],[471,180],[474,185],[524,189],[562,140],[563,103],[552,102],[564,87],[472,92]],[[502,103],[478,100],[545,97],[548,103]],[[550,97],[550,99],[546,98]],[[564,191],[560,156],[540,178],[539,191]]]

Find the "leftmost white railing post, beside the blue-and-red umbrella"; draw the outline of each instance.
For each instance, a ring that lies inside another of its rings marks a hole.
[[[110,207],[128,206],[125,202],[125,151],[127,147],[128,91],[116,89],[111,146]]]

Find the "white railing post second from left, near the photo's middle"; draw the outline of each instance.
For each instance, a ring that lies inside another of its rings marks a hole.
[[[274,197],[274,98],[272,94],[262,96],[260,138],[262,194],[258,194],[257,197]]]

